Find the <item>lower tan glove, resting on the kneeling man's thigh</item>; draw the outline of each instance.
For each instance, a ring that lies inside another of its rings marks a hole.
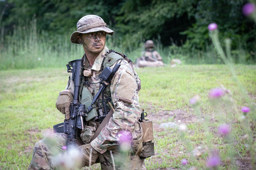
[[[91,143],[88,143],[86,145],[79,146],[80,150],[80,167],[82,168],[84,166],[89,166],[89,162],[91,161],[90,165],[93,165],[96,161],[96,159],[99,156],[99,152],[97,152],[93,147],[91,146]]]

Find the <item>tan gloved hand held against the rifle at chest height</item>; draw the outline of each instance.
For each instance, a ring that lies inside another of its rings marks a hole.
[[[70,119],[69,107],[70,103],[73,101],[73,96],[70,90],[63,90],[60,92],[57,101],[56,108],[66,115],[66,119]]]

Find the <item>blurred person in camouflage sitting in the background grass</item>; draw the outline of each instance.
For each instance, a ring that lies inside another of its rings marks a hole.
[[[154,42],[152,40],[147,40],[145,42],[145,51],[142,51],[141,58],[136,60],[138,67],[158,67],[164,66],[162,62],[161,55],[154,50]]]

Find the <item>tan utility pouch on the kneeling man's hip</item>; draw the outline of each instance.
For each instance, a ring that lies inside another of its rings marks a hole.
[[[149,120],[142,120],[141,126],[143,130],[143,150],[140,152],[140,159],[146,159],[155,155],[154,151],[154,136],[153,136],[153,122]]]

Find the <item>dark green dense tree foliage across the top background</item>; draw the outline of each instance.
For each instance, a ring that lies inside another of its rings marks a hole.
[[[221,40],[230,37],[233,49],[250,51],[255,58],[255,24],[243,16],[247,0],[122,0],[122,1],[58,1],[2,0],[0,17],[2,40],[15,25],[26,27],[37,20],[37,29],[54,37],[70,36],[77,21],[88,14],[99,15],[115,31],[114,45],[140,47],[148,39],[164,46],[185,44],[188,48],[207,50],[210,44],[207,26],[216,22]],[[56,39],[52,38],[53,40]],[[68,41],[68,40],[67,40]],[[3,42],[3,41],[2,41]],[[244,45],[246,44],[246,46]]]

